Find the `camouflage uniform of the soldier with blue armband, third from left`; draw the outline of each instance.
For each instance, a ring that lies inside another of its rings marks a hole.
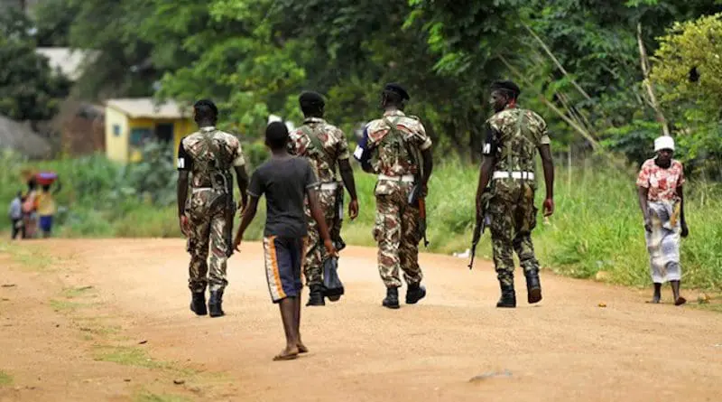
[[[396,126],[400,138],[384,121]],[[421,151],[430,148],[431,140],[416,117],[402,111],[384,113],[366,127],[368,148],[372,150],[371,166],[379,174],[376,182],[376,219],[374,238],[378,243],[378,270],[387,288],[400,287],[399,267],[408,285],[418,285],[422,274],[419,266],[419,209],[409,204],[413,187],[412,155],[406,145]],[[421,161],[416,161],[421,164]]]

